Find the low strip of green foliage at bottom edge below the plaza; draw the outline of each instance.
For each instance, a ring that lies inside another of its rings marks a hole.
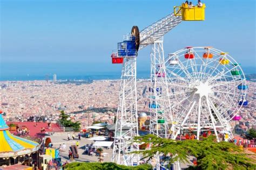
[[[138,166],[124,166],[124,165],[117,165],[112,162],[104,162],[104,163],[98,163],[98,162],[73,162],[71,164],[68,164],[65,166],[65,169],[71,169],[71,170],[82,170],[82,169],[88,169],[88,170],[113,170],[113,169],[132,169],[132,170],[144,170],[144,169],[152,169],[152,166],[149,164],[142,164]]]

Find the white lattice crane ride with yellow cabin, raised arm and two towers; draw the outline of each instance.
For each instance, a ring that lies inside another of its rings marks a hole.
[[[112,161],[123,165],[138,165],[138,145],[131,144],[138,136],[136,57],[138,50],[151,45],[151,87],[150,87],[150,133],[161,138],[173,138],[173,116],[165,71],[164,35],[182,20],[204,20],[205,5],[188,9],[188,6],[174,7],[174,12],[147,26],[141,32],[132,27],[131,34],[118,43],[118,51],[112,53],[112,63],[123,63],[120,95]],[[160,168],[156,155],[157,169]]]

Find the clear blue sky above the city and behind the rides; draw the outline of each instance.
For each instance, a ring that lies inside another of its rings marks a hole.
[[[143,30],[182,2],[0,0],[1,74],[119,72],[122,66],[112,65],[110,55],[123,35],[133,25]],[[165,54],[213,46],[229,52],[241,67],[255,68],[255,1],[202,2],[205,21],[183,21],[167,33]],[[139,51],[137,67],[150,70],[150,47]]]

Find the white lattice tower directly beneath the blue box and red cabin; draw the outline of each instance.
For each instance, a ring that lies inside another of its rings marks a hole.
[[[133,137],[138,136],[136,72],[136,56],[125,57],[120,82],[121,89],[111,159],[112,162],[117,162],[119,165],[133,166],[134,162],[137,162],[137,165],[139,165],[139,154],[130,153],[139,151],[138,144],[131,144]],[[129,130],[124,131],[124,128],[127,127],[129,127]]]

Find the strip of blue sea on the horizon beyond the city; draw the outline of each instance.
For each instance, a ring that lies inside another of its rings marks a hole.
[[[245,74],[256,74],[256,67],[242,67]],[[89,66],[69,64],[11,63],[0,65],[0,81],[52,80],[117,80],[120,79],[122,65]],[[137,69],[138,79],[150,79],[150,65]]]

